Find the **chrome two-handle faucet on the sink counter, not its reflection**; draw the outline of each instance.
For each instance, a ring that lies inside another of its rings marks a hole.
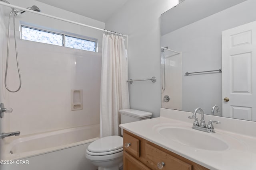
[[[201,112],[200,124],[199,124],[199,122],[197,120],[197,117],[196,117],[196,113],[198,112],[198,110]],[[196,130],[204,131],[204,132],[208,132],[208,133],[215,133],[212,123],[220,124],[220,121],[209,120],[209,123],[206,126],[205,125],[205,120],[204,120],[204,111],[200,107],[196,108],[195,111],[193,112],[192,116],[188,116],[188,118],[195,119],[195,121],[193,123],[193,126],[192,126],[192,129],[196,129]]]

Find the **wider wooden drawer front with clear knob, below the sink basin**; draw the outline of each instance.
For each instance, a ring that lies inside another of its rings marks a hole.
[[[146,143],[146,165],[152,170],[159,170],[158,162],[164,162],[162,170],[191,170],[192,165]]]

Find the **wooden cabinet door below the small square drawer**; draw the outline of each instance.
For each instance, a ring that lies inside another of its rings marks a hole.
[[[150,170],[142,162],[138,161],[136,158],[124,152],[124,170]]]

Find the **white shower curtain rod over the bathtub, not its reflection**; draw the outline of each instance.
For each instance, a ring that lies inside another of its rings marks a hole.
[[[108,32],[108,33],[116,33],[114,31],[109,31],[109,30],[106,30],[106,29],[102,29],[102,28],[98,28],[98,27],[93,27],[93,26],[90,26],[90,25],[86,25],[86,24],[83,24],[83,23],[79,23],[79,22],[75,22],[75,21],[70,21],[70,20],[66,20],[64,18],[60,18],[60,17],[56,17],[56,16],[51,16],[49,14],[44,14],[42,12],[36,12],[36,11],[33,11],[33,10],[28,10],[27,8],[22,8],[20,6],[15,6],[15,5],[12,5],[12,4],[7,4],[5,2],[1,2],[0,1],[0,5],[3,5],[3,6],[8,6],[8,7],[11,7],[11,8],[15,8],[15,9],[20,9],[20,10],[24,10],[24,11],[27,11],[27,12],[30,12],[30,13],[34,13],[34,14],[38,14],[38,15],[41,15],[41,16],[46,16],[46,17],[49,17],[49,18],[54,18],[56,20],[61,20],[61,21],[66,21],[66,22],[69,22],[69,23],[74,23],[76,25],[81,25],[81,26],[84,26],[84,27],[89,27],[89,28],[93,28],[93,29],[98,29],[100,31],[104,31],[104,32]],[[118,33],[120,34],[120,33]],[[124,37],[128,37],[128,35],[124,35],[124,34],[120,34]]]

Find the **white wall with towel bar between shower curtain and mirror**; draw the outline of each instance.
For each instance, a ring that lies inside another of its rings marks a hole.
[[[106,29],[128,35],[128,78],[156,76],[156,82],[129,84],[130,107],[160,115],[160,15],[177,0],[128,0],[107,22]]]

